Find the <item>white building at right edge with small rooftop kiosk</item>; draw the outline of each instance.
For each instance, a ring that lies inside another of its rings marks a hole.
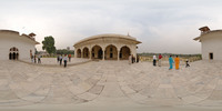
[[[201,42],[203,60],[222,60],[222,30],[210,30],[208,27],[199,29],[200,37],[194,40]]]

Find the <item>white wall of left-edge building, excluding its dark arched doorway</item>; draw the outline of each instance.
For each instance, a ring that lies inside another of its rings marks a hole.
[[[19,59],[30,59],[30,50],[34,54],[34,41],[16,33],[0,33],[0,60],[9,60],[10,48],[18,48]]]

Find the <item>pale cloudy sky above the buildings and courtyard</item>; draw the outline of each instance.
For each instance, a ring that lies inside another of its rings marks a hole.
[[[130,34],[138,52],[201,53],[199,28],[222,28],[221,0],[0,0],[0,30],[14,30],[57,49],[104,33]],[[37,46],[42,50],[42,44]]]

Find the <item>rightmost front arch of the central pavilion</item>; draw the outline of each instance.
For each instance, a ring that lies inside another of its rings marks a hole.
[[[130,54],[130,48],[128,48],[127,46],[120,49],[120,60],[128,60]]]

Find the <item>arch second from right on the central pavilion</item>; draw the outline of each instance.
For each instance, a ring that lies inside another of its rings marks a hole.
[[[118,60],[118,49],[115,46],[110,44],[105,48],[104,51],[105,60]]]

